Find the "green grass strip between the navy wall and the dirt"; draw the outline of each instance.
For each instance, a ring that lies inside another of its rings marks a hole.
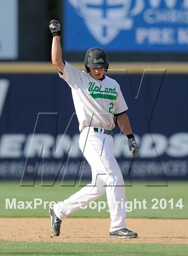
[[[29,184],[29,183],[27,183]],[[53,187],[42,187],[36,183],[33,187],[20,187],[19,182],[2,182],[0,183],[0,216],[1,217],[48,217],[47,209],[38,206],[37,209],[5,209],[5,198],[16,198],[18,201],[33,201],[34,198],[42,198],[43,201],[62,201],[73,193],[81,189],[80,186],[68,186],[73,182],[67,182],[60,186],[57,182]],[[151,183],[150,183],[151,184]],[[155,182],[155,184],[158,184]],[[149,217],[149,218],[188,218],[188,184],[186,182],[169,182],[167,187],[146,187],[143,182],[133,182],[132,187],[126,187],[126,200],[132,201],[134,198],[142,201],[146,199],[147,209],[133,209],[127,213],[128,217]],[[173,198],[177,202],[179,198],[183,199],[184,207],[182,209],[175,207],[171,209],[167,203],[166,209],[151,209],[154,204],[152,198],[165,198],[167,201]],[[107,201],[106,195],[98,201]],[[97,202],[98,202],[97,201]],[[109,217],[107,208],[98,212],[97,209],[79,210],[74,212],[70,217]]]

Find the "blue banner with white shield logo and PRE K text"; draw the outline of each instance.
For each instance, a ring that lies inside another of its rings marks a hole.
[[[64,0],[64,50],[188,51],[187,0]]]

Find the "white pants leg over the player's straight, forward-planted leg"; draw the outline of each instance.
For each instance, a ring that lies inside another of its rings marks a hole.
[[[92,127],[85,128],[83,132],[80,138],[82,152],[107,188],[107,201],[111,217],[110,231],[125,228],[124,179],[113,154],[113,138],[110,135],[94,132]],[[86,143],[83,145],[85,137]]]

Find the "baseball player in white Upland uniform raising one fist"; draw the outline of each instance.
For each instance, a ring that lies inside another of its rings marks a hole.
[[[126,110],[128,109],[120,85],[104,75],[108,70],[106,52],[91,48],[85,55],[85,69],[79,71],[62,60],[60,23],[52,20],[53,35],[51,57],[59,76],[71,87],[73,102],[79,121],[79,147],[91,166],[92,182],[70,198],[50,208],[51,228],[60,235],[62,221],[72,212],[85,207],[105,192],[110,211],[110,238],[137,238],[137,233],[125,225],[124,179],[113,154],[112,129],[116,123],[128,137],[128,147],[138,155],[138,145],[132,134]]]

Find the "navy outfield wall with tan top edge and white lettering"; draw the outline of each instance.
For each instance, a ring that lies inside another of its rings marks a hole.
[[[187,66],[113,65],[108,75],[121,86],[140,145],[139,158],[132,159],[126,136],[115,127],[114,153],[124,179],[188,178]],[[149,67],[155,69],[143,75]],[[59,179],[90,179],[78,147],[71,90],[50,63],[1,66],[0,115],[1,179],[20,179],[23,171],[23,180],[55,180],[59,172]]]

